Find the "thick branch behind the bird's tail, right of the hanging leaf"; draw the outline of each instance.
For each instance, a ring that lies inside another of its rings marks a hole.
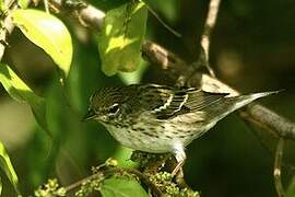
[[[191,74],[191,72],[193,72],[191,71],[191,67],[188,67],[187,63],[175,54],[155,43],[145,42],[142,46],[142,53],[145,59],[168,73],[170,79],[177,80],[182,77],[187,86],[197,86],[209,92],[227,92],[231,93],[231,95],[239,94],[236,90],[216,78],[196,71],[196,73]],[[190,76],[187,73],[190,73]],[[263,127],[269,132],[274,131],[279,137],[295,140],[295,124],[273,111],[262,105],[255,104],[248,105],[247,111],[243,114],[244,116],[241,117],[245,120]]]

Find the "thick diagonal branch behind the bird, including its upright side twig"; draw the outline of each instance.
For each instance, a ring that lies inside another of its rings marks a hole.
[[[60,10],[64,10],[64,3],[62,0],[49,0],[49,3],[54,3]],[[202,35],[201,43],[206,58],[209,58],[210,46],[210,32],[213,28],[216,15],[219,11],[220,0],[212,0],[210,3],[210,10],[208,20],[205,22],[205,30]],[[85,4],[76,10],[79,18],[83,20],[88,26],[99,31],[104,21],[104,13],[98,9]],[[227,92],[232,95],[238,95],[239,93],[232,89],[226,83],[220,81],[216,78],[210,77],[205,73],[199,72],[196,68],[189,66],[186,61],[179,58],[177,55],[170,53],[166,48],[145,40],[142,45],[142,56],[157,69],[163,70],[170,80],[174,80],[176,84],[185,84],[189,86],[200,88],[204,91],[212,92]],[[279,137],[295,140],[295,124],[286,119],[285,117],[274,113],[273,111],[259,105],[252,104],[247,106],[247,111],[243,111],[243,118],[258,127],[263,127],[268,131],[274,131]]]

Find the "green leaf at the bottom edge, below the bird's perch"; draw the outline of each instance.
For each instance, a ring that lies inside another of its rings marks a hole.
[[[146,192],[134,178],[111,177],[101,186],[103,197],[148,197]]]

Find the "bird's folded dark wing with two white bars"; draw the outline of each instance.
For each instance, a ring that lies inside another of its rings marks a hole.
[[[150,111],[158,119],[169,119],[177,115],[205,112],[208,107],[223,100],[227,93],[209,93],[199,89],[169,89],[167,86],[149,86],[143,97]]]

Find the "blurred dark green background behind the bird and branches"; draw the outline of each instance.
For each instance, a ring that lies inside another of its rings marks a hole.
[[[123,1],[88,1],[107,11]],[[208,0],[145,0],[182,36],[175,37],[149,14],[146,37],[165,46],[188,62],[198,58],[200,34]],[[30,43],[19,30],[9,37],[4,61],[38,94],[47,100],[47,120],[56,144],[37,126],[28,105],[16,103],[0,88],[0,140],[7,147],[21,190],[28,195],[48,177],[69,185],[90,174],[91,166],[113,157],[122,165],[131,151],[121,148],[96,123],[81,123],[95,89],[153,82],[154,72],[142,62],[133,73],[106,77],[101,71],[95,32],[70,16],[60,15],[69,27],[74,56],[67,92],[58,83],[52,60]],[[295,121],[295,1],[223,0],[212,33],[211,65],[216,76],[244,93],[285,90],[261,103]],[[146,80],[149,79],[149,80]],[[262,144],[261,141],[267,141]],[[295,165],[295,142],[287,141],[285,162]],[[275,196],[273,150],[275,140],[246,125],[237,114],[220,121],[188,148],[185,177],[204,197]],[[292,174],[283,169],[287,187]],[[5,179],[4,179],[5,181]],[[4,184],[3,196],[14,196]]]

